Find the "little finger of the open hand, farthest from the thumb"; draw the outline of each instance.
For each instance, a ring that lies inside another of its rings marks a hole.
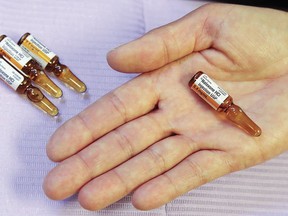
[[[160,207],[188,191],[234,171],[233,159],[222,151],[200,150],[173,169],[140,186],[133,205],[141,210]]]

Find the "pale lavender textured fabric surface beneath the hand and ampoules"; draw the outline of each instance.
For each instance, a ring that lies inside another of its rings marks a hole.
[[[0,215],[288,215],[288,154],[195,189],[166,206],[141,212],[131,196],[98,212],[82,209],[73,196],[51,201],[42,191],[45,174],[55,166],[45,145],[50,135],[96,99],[134,75],[113,71],[106,53],[154,27],[173,21],[203,1],[181,0],[13,0],[0,1],[0,33],[15,41],[32,33],[70,66],[88,87],[89,97],[62,88],[64,101],[55,120],[0,82]],[[109,193],[109,191],[107,191]]]

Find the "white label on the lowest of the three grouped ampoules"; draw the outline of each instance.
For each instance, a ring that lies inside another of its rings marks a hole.
[[[15,91],[24,80],[23,75],[2,58],[0,58],[0,78]]]

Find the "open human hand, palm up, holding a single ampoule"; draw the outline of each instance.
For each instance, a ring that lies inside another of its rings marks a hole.
[[[288,15],[209,4],[108,54],[112,68],[143,73],[61,126],[47,145],[60,162],[43,184],[51,199],[79,192],[98,210],[134,192],[159,207],[225,174],[288,149]],[[251,137],[188,88],[217,79],[262,128]]]

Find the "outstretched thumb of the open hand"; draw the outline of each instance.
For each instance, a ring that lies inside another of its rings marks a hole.
[[[210,8],[204,6],[205,8]],[[213,8],[214,10],[214,8]],[[213,31],[203,7],[120,46],[107,55],[109,65],[123,72],[146,72],[211,46]]]

